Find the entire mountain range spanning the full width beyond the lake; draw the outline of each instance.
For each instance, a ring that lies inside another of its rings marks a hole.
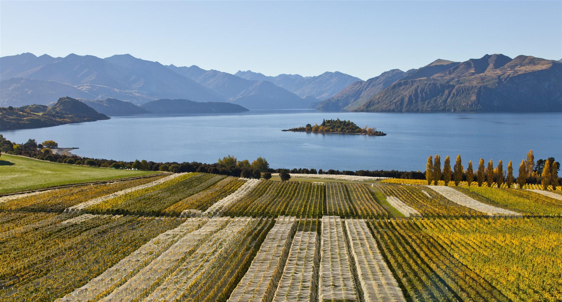
[[[306,77],[252,71],[232,75],[194,65],[164,66],[129,54],[102,59],[22,53],[0,58],[0,106],[47,104],[69,95],[90,100],[92,107],[110,115],[142,113],[150,109],[126,102],[142,105],[160,99],[244,109],[562,111],[559,61],[487,54],[465,62],[436,60],[406,72],[393,69],[362,81],[337,71]]]

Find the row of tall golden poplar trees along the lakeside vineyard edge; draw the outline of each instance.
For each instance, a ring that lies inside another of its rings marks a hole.
[[[529,154],[527,155],[527,160],[523,159],[519,166],[519,175],[516,179],[519,187],[523,187],[525,185],[527,177],[531,175],[529,170],[532,170],[532,167],[534,166],[533,150],[529,151]],[[428,185],[431,185],[432,182],[434,185],[438,185],[438,181],[441,180],[441,177],[443,177],[445,185],[448,185],[448,183],[452,180],[455,182],[455,186],[458,186],[459,183],[463,181],[463,175],[466,175],[466,182],[468,182],[469,186],[474,181],[474,176],[476,176],[478,186],[482,186],[485,181],[488,187],[492,187],[494,180],[497,187],[501,187],[504,182],[507,187],[511,187],[511,185],[514,184],[513,166],[511,161],[507,164],[507,176],[505,175],[504,164],[501,160],[497,163],[496,168],[493,166],[492,159],[488,162],[488,166],[484,167],[484,159],[482,158],[478,163],[476,175],[474,175],[472,161],[468,162],[468,168],[464,170],[460,154],[457,155],[455,166],[452,171],[451,159],[448,156],[445,158],[443,170],[441,170],[441,156],[439,154],[435,155],[434,158],[429,156],[427,158],[426,167],[425,179],[427,180]],[[549,187],[549,185],[552,186],[553,190],[556,190],[556,186],[558,186],[558,164],[556,162],[551,161],[550,159],[546,161],[542,172],[541,184],[545,190]]]

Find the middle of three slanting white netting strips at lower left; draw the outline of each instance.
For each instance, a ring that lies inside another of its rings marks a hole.
[[[154,291],[166,276],[169,276],[184,262],[185,258],[193,254],[217,231],[228,225],[230,221],[232,221],[232,218],[209,219],[198,230],[180,238],[158,258],[140,269],[137,274],[101,301],[131,301]]]

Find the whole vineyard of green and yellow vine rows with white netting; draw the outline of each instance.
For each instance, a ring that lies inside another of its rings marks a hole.
[[[426,185],[176,173],[6,196],[0,301],[562,300],[559,191]]]

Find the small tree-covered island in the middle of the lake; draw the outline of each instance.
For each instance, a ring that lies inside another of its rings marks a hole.
[[[281,131],[293,131],[293,132],[320,132],[320,133],[339,133],[339,134],[363,134],[363,135],[378,135],[383,136],[386,133],[377,131],[376,128],[365,127],[360,128],[354,122],[350,120],[323,120],[320,125],[317,123],[314,126],[307,124],[304,127],[296,127],[293,129],[286,129]]]

